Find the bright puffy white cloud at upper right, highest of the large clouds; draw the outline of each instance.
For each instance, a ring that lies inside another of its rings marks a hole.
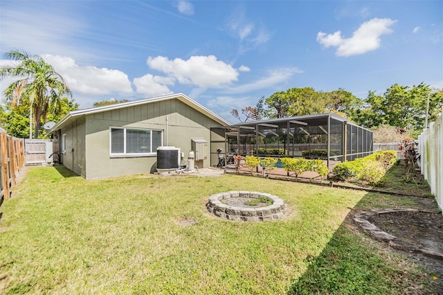
[[[341,31],[334,34],[318,32],[317,41],[325,47],[338,46],[336,51],[338,56],[359,55],[379,48],[380,36],[392,33],[389,27],[395,22],[392,19],[374,18],[361,24],[350,38],[343,38]]]

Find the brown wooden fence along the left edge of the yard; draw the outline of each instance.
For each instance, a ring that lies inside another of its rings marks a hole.
[[[8,136],[3,129],[0,129],[0,164],[0,199],[9,199],[10,188],[15,186],[25,164],[24,140]]]

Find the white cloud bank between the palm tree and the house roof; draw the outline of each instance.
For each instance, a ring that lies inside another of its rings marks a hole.
[[[62,75],[73,92],[88,95],[133,92],[128,76],[122,71],[96,66],[79,66],[72,58],[60,55],[46,54],[42,57]]]

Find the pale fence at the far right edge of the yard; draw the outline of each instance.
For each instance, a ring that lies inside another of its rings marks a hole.
[[[442,115],[418,136],[418,149],[422,174],[443,208],[443,107]]]

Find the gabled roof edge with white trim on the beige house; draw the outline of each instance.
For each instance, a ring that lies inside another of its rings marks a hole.
[[[103,107],[93,107],[90,109],[78,109],[76,111],[69,111],[69,113],[66,114],[66,116],[64,116],[60,121],[57,122],[57,124],[54,125],[54,127],[51,128],[50,133],[54,132],[58,129],[61,129],[66,123],[69,123],[69,121],[71,121],[72,118],[90,115],[90,114],[101,113],[103,111],[112,111],[114,109],[123,109],[125,107],[134,107],[136,105],[144,105],[147,103],[159,102],[162,100],[170,100],[170,99],[180,100],[184,104],[192,107],[192,109],[199,111],[201,114],[208,116],[208,118],[215,120],[217,123],[220,123],[223,126],[231,125],[231,123],[229,123],[228,120],[221,118],[221,116],[215,114],[213,111],[210,111],[209,109],[207,109],[203,105],[200,105],[198,102],[196,102],[195,100],[192,100],[191,98],[189,98],[185,94],[174,93],[174,94],[170,94],[168,96],[158,96],[155,98],[145,98],[142,100],[134,100],[134,101],[130,101],[130,102],[116,103],[115,105],[105,105]]]

